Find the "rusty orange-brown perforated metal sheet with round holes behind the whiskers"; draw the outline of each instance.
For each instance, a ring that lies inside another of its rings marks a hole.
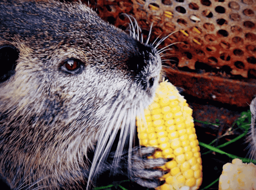
[[[164,33],[179,30],[170,42],[178,67],[195,69],[196,61],[248,77],[256,68],[256,4],[253,0],[132,0],[135,17],[156,21]],[[151,14],[147,14],[151,13]],[[198,63],[200,68],[200,63]],[[230,69],[228,69],[230,68]]]

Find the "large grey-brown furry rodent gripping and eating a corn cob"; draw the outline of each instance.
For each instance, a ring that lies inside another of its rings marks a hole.
[[[156,166],[170,159],[132,147],[160,80],[156,47],[81,3],[1,0],[0,15],[0,179],[13,190],[80,190],[110,171],[163,184]]]

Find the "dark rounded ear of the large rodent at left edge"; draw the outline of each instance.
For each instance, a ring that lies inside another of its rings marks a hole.
[[[0,83],[8,80],[15,73],[19,53],[13,45],[0,46]]]

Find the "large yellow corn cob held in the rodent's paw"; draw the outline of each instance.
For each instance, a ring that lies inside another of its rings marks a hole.
[[[202,184],[202,159],[192,109],[170,82],[161,82],[145,116],[137,117],[140,145],[154,146],[151,158],[174,158],[160,167],[170,170],[157,190],[197,190]],[[145,126],[147,125],[147,126]]]

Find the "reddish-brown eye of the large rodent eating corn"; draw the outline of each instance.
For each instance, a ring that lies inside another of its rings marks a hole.
[[[60,69],[70,74],[77,74],[84,69],[84,65],[78,59],[68,59],[61,64]]]

